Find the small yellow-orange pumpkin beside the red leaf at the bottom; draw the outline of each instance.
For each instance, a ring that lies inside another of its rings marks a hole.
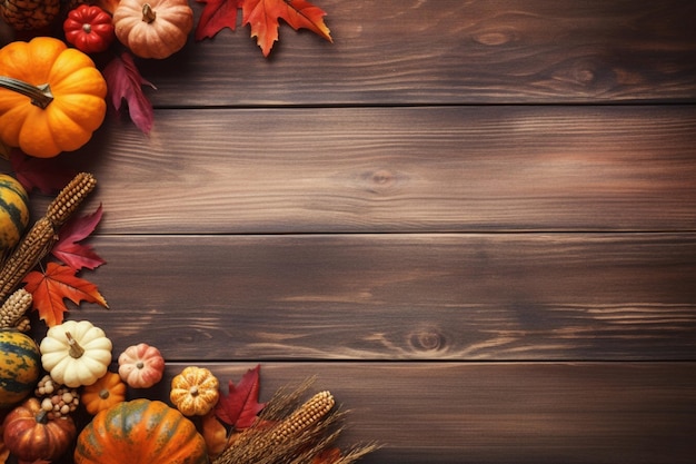
[[[205,367],[189,366],[171,379],[169,398],[186,416],[206,415],[218,403],[220,383]]]

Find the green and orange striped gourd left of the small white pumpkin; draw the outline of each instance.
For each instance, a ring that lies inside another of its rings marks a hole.
[[[30,336],[0,329],[0,409],[29,395],[41,374],[41,354]]]

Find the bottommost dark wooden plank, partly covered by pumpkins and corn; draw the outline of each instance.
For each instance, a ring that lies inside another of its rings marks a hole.
[[[223,384],[255,364],[212,364]],[[183,367],[138,396],[168,397]],[[261,398],[318,375],[371,463],[693,463],[694,363],[265,363]]]

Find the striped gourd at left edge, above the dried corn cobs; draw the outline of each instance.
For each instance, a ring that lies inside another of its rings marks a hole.
[[[0,253],[12,248],[29,224],[27,191],[12,176],[0,175]]]

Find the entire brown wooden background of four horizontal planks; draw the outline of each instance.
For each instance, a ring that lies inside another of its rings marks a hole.
[[[317,374],[366,463],[694,463],[696,2],[315,3],[335,43],[191,39],[149,137],[66,155],[111,307],[70,317]]]

